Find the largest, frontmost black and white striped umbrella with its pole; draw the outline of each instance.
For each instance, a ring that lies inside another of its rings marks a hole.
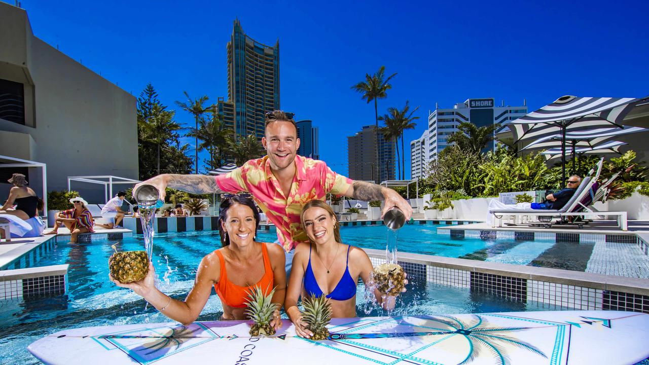
[[[544,136],[543,133],[545,136],[561,134],[561,180],[565,181],[565,134],[569,127],[575,125],[570,131],[605,125],[622,129],[622,120],[638,101],[641,99],[635,97],[562,96],[550,105],[511,121],[509,128],[514,133],[514,143],[528,139],[528,136],[537,140]],[[536,135],[534,131],[537,131]]]

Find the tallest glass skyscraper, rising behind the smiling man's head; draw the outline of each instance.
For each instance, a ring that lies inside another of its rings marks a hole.
[[[219,112],[235,138],[263,137],[265,113],[280,108],[280,43],[265,45],[243,32],[234,21],[228,42],[228,100],[218,100]]]

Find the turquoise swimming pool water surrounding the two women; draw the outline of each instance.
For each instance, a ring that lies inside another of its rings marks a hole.
[[[417,227],[417,226],[415,226]],[[385,227],[345,227],[343,240],[352,242],[362,238],[363,246],[384,248],[380,236]],[[419,232],[434,233],[433,226],[419,226]],[[376,237],[368,238],[362,229],[372,229]],[[433,230],[431,230],[433,229]],[[259,240],[274,240],[274,231],[260,231]],[[356,236],[357,238],[353,238]],[[403,251],[415,245],[422,249],[421,241],[403,234]],[[450,238],[449,238],[450,240]],[[141,238],[125,238],[118,241],[120,251],[142,249]],[[108,281],[108,257],[110,247],[116,242],[99,241],[90,244],[58,243],[55,250],[42,258],[38,266],[69,264],[68,292],[66,296],[42,297],[29,301],[9,300],[0,302],[0,363],[38,364],[27,353],[27,346],[45,334],[55,333],[72,327],[86,327],[106,324],[147,323],[169,321],[155,308],[130,290],[118,288]],[[400,240],[399,244],[402,244]],[[458,240],[441,244],[437,252],[464,252],[458,248]],[[159,234],[154,242],[154,267],[160,278],[159,288],[175,299],[184,299],[193,285],[196,268],[201,258],[219,245],[216,233]],[[484,248],[484,243],[469,240],[472,251]],[[465,249],[468,250],[468,249]],[[407,305],[404,305],[407,303]],[[377,308],[366,308],[363,287],[357,295],[359,316],[382,316],[385,312]],[[555,305],[521,303],[506,297],[472,292],[467,288],[440,286],[432,283],[411,283],[408,292],[399,299],[393,315],[406,314],[453,314],[462,312],[506,312],[520,310],[559,310]],[[212,294],[199,320],[218,320],[221,303]]]

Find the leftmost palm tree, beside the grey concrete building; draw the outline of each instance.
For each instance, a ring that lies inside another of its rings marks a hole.
[[[160,175],[160,148],[166,144],[167,140],[174,138],[175,131],[181,128],[173,120],[174,115],[173,110],[164,110],[162,105],[154,104],[151,107],[149,118],[138,121],[141,140],[156,145],[158,175]]]

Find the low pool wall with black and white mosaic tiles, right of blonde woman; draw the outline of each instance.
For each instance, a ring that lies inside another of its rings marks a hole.
[[[365,251],[374,266],[386,262],[384,251]],[[469,288],[524,303],[649,313],[646,279],[411,253],[399,255],[398,263],[410,279],[417,281]]]

